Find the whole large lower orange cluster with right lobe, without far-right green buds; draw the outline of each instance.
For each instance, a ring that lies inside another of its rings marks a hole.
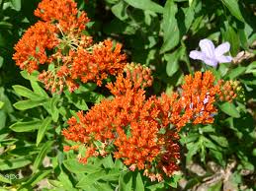
[[[78,119],[68,120],[63,136],[88,148],[80,161],[104,157],[106,148],[114,147],[111,154],[116,159],[123,159],[130,170],[143,169],[152,181],[161,181],[179,169],[178,132],[188,123],[213,123],[217,111],[213,104],[223,83],[214,85],[209,71],[196,72],[194,77],[185,77],[179,94],[146,98],[144,88],[151,86],[152,80],[148,68],[128,64],[125,74],[107,85],[113,99],[104,99],[86,114],[79,111]],[[104,147],[99,149],[96,141]]]

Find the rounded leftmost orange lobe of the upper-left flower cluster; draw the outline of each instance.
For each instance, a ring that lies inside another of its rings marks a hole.
[[[45,51],[57,44],[56,28],[47,22],[38,22],[15,45],[13,59],[22,70],[26,69],[31,73],[39,69],[39,64],[47,61]]]

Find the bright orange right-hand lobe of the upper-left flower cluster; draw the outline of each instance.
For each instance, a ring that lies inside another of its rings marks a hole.
[[[88,81],[102,85],[102,80],[108,75],[118,75],[123,72],[126,54],[121,53],[122,45],[105,40],[92,46],[92,50],[78,49],[73,56],[70,75],[72,79],[81,79],[83,83]]]

